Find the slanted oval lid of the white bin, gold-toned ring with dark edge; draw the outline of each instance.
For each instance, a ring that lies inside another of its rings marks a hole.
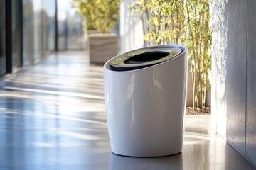
[[[181,54],[181,52],[181,48],[167,45],[141,48],[114,57],[110,60],[110,67],[115,71],[142,69],[170,60]]]

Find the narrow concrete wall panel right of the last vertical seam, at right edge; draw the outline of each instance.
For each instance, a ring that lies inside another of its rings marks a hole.
[[[256,1],[247,0],[247,115],[246,149],[247,157],[256,163]]]

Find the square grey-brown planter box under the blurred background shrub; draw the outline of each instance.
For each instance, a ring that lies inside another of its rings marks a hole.
[[[118,54],[116,34],[92,33],[88,35],[90,63],[104,64]]]

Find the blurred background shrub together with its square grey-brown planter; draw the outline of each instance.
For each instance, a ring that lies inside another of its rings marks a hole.
[[[88,34],[90,63],[102,64],[118,54],[118,38],[110,31],[119,18],[119,0],[73,0],[73,6],[85,19],[85,27],[97,33]]]

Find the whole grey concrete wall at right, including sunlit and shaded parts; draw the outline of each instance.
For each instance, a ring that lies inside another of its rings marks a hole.
[[[249,0],[211,1],[212,125],[256,164],[255,9]]]

